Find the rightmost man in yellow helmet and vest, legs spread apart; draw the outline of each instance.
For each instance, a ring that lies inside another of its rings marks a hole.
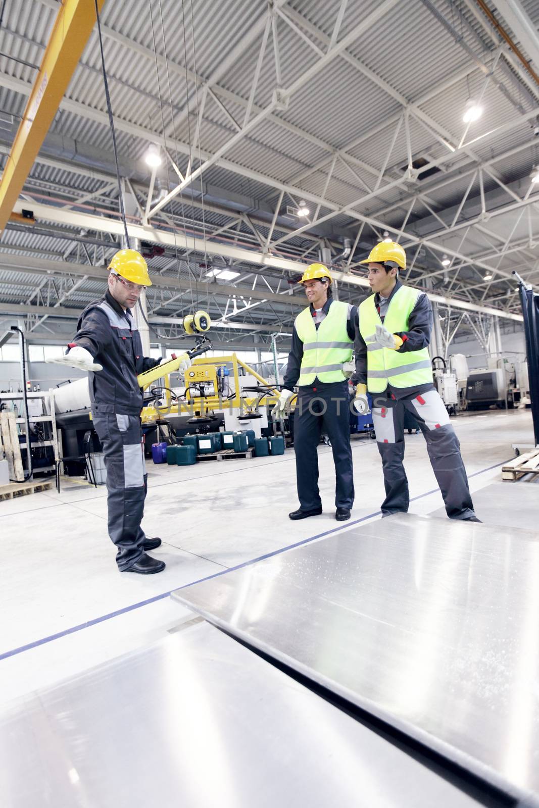
[[[419,423],[428,456],[451,519],[478,522],[459,442],[448,412],[432,383],[428,352],[432,307],[421,289],[405,286],[398,271],[406,253],[396,242],[381,242],[367,259],[373,292],[359,307],[356,332],[356,408],[373,397],[373,424],[384,469],[383,516],[406,512],[410,502],[404,457],[406,410]]]

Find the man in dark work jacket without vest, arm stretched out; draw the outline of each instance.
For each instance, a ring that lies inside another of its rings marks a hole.
[[[146,554],[161,539],[147,538],[141,528],[146,471],[137,375],[160,360],[142,355],[132,309],[152,282],[137,250],[117,252],[108,270],[107,292],[86,306],[68,352],[57,361],[89,372],[92,420],[107,468],[108,533],[116,545],[118,568],[151,574],[164,570],[165,562]],[[186,359],[180,369],[189,364]]]

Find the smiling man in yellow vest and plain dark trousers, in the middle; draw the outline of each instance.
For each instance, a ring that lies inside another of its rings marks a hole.
[[[333,299],[331,280],[322,263],[310,264],[301,276],[309,305],[294,322],[284,385],[272,410],[274,418],[282,418],[297,386],[293,434],[300,507],[288,514],[292,520],[322,513],[318,490],[322,431],[331,441],[335,461],[335,518],[350,519],[354,502],[347,368],[343,366],[352,360],[357,309]]]

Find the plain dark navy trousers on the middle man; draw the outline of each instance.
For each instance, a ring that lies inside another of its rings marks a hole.
[[[318,444],[331,440],[335,461],[335,507],[352,508],[354,471],[350,446],[348,384],[300,387],[294,410],[297,496],[302,511],[322,507],[318,490]]]

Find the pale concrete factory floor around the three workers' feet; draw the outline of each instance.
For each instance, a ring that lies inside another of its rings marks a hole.
[[[513,457],[511,444],[533,440],[530,412],[480,413],[453,423],[470,489],[477,492],[478,517],[486,524],[535,528],[533,483],[500,482],[500,465]],[[335,473],[326,446],[319,448],[325,512],[296,523],[288,520],[297,507],[293,449],[283,457],[183,468],[150,461],[143,526],[148,536],[162,537],[153,554],[167,566],[148,577],[117,571],[104,489],[66,482],[61,494],[0,503],[0,702],[76,675],[191,620],[192,612],[168,597],[174,589],[347,530],[358,520],[379,519],[383,478],[376,443],[355,438],[352,448],[356,506],[343,525],[335,522]],[[411,512],[444,514],[421,435],[406,435],[405,465]],[[493,483],[499,483],[494,498],[486,490]],[[500,505],[503,486],[512,508]]]

